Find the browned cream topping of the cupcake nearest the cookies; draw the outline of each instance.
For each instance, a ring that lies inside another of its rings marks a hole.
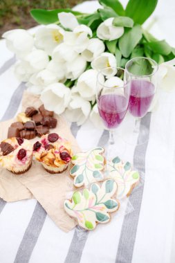
[[[37,161],[52,167],[60,167],[71,161],[73,151],[71,149],[71,143],[69,143],[68,140],[59,136],[59,138],[52,143],[48,140],[48,134],[46,134],[42,136],[39,143],[41,143],[40,147],[33,149],[33,156],[35,156]],[[49,149],[49,145],[52,145],[52,148]],[[65,157],[65,155],[67,156]]]

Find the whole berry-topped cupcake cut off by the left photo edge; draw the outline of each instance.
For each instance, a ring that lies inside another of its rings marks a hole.
[[[0,143],[0,165],[14,174],[28,171],[33,159],[33,145],[23,138],[8,138]]]

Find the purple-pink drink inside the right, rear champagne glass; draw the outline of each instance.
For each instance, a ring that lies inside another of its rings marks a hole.
[[[154,84],[147,80],[132,80],[129,98],[129,112],[134,117],[147,114],[155,93]]]

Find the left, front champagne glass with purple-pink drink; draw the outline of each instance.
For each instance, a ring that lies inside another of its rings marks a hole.
[[[116,156],[114,130],[125,118],[129,105],[130,76],[126,78],[125,69],[106,68],[98,73],[96,100],[98,111],[104,127],[109,130],[109,144],[107,156]]]

